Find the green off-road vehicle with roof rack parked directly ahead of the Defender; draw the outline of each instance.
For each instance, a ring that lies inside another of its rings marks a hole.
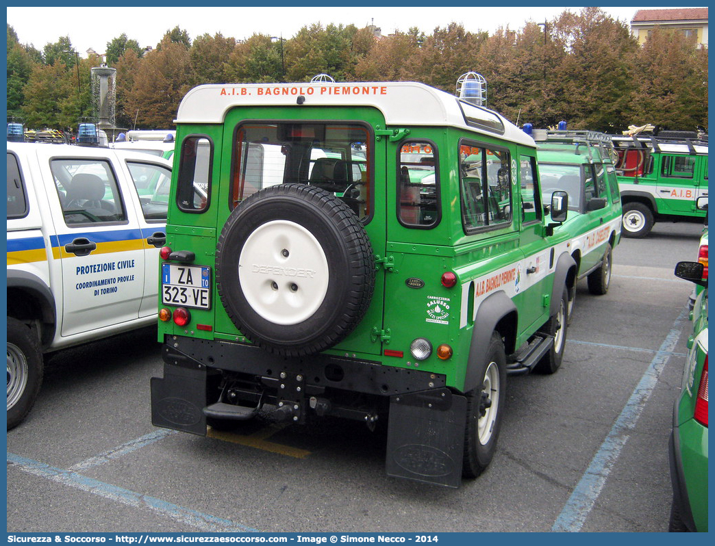
[[[591,294],[606,294],[611,283],[613,249],[621,239],[621,196],[613,167],[611,137],[595,131],[533,131],[538,147],[541,193],[568,192],[569,252]],[[571,323],[574,287],[568,299]]]

